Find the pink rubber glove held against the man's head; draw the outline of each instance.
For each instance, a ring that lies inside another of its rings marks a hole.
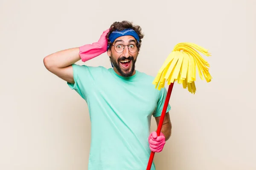
[[[106,35],[108,34],[108,32],[109,29],[104,31],[101,37],[99,38],[98,42],[86,44],[84,46],[79,47],[79,55],[83,62],[95,58],[107,51],[108,39],[106,38]]]

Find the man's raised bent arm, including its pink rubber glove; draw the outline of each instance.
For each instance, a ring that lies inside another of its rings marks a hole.
[[[49,72],[52,72],[64,81],[74,83],[72,64],[79,60],[83,62],[88,61],[106,52],[108,46],[106,35],[108,32],[109,29],[105,30],[98,42],[47,55],[44,58],[44,66]]]

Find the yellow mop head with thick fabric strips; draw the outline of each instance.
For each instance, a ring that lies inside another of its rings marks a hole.
[[[196,50],[206,56],[211,56],[207,49],[194,43],[178,43],[153,81],[156,88],[157,86],[159,90],[163,88],[166,81],[169,85],[177,81],[178,84],[183,84],[184,89],[188,88],[189,92],[195,94],[196,67],[201,80],[205,78],[207,83],[210,82],[212,77],[207,68],[209,63]]]

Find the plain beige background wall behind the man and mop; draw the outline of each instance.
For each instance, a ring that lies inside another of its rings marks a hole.
[[[122,20],[143,29],[137,69],[147,74],[180,42],[212,53],[212,82],[197,78],[196,95],[174,86],[157,170],[256,170],[254,9],[255,0],[0,0],[0,170],[87,170],[87,104],[43,58]],[[106,53],[87,64],[111,67]]]

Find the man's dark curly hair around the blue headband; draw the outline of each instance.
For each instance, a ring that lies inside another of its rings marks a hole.
[[[129,21],[122,21],[122,22],[114,22],[111,26],[110,26],[110,31],[108,32],[107,34],[107,39],[108,39],[108,45],[112,45],[111,41],[109,40],[109,35],[115,31],[115,30],[118,30],[118,31],[122,31],[124,29],[133,29],[135,32],[137,32],[137,34],[139,35],[140,37],[140,41],[137,42],[137,48],[138,48],[138,51],[140,51],[140,46],[141,46],[141,39],[143,39],[144,35],[141,31],[141,27],[140,26],[134,26],[132,22],[129,22]]]

